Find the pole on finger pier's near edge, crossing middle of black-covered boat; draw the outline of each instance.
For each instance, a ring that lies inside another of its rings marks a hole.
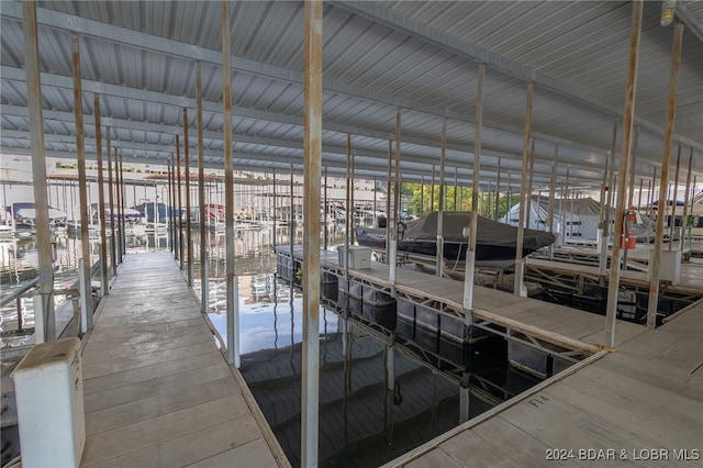
[[[464,325],[465,335],[469,333],[469,326],[473,323],[473,277],[476,269],[476,237],[479,229],[478,207],[479,200],[476,189],[479,186],[479,172],[481,168],[481,131],[483,129],[483,79],[486,65],[479,65],[476,92],[476,138],[473,142],[473,180],[471,189],[471,222],[469,224],[469,238],[466,250],[466,274],[464,275]],[[468,410],[467,410],[468,412]]]

